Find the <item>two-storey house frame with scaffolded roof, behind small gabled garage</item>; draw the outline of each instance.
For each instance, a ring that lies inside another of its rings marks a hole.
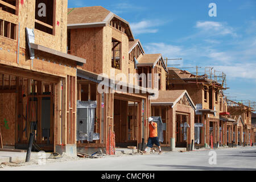
[[[216,81],[209,80],[204,76],[193,75],[188,71],[168,68],[168,72],[167,90],[187,90],[197,106],[195,123],[203,124],[203,132],[200,137],[201,143],[195,144],[195,147],[210,146],[211,139],[213,139],[213,147],[218,147],[220,127],[222,126],[226,131],[224,123],[220,122],[220,113],[223,113],[221,107],[225,107],[222,105],[224,100],[221,99],[223,97],[221,90],[225,88]]]

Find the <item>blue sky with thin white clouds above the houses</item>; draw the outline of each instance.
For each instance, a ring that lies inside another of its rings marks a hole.
[[[216,3],[217,17],[209,16],[209,3]],[[227,75],[228,97],[256,101],[255,0],[68,2],[83,6],[103,6],[126,19],[146,53],[183,58],[169,63],[180,68],[214,67]]]

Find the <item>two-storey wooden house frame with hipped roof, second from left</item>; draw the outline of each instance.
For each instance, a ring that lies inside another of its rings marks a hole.
[[[136,71],[134,66],[131,72],[128,69],[129,45],[135,41],[129,22],[101,6],[69,9],[68,12],[68,52],[71,55],[86,57],[86,65],[77,69],[77,98],[81,101],[97,101],[95,132],[100,133],[100,140],[77,141],[78,150],[93,154],[98,148],[107,148],[109,133],[115,134],[117,145],[128,145],[129,101],[138,104],[133,112],[133,123],[137,125],[137,131],[132,137],[134,146],[141,148],[147,138],[147,126],[144,123],[150,115],[149,98],[154,92],[138,86],[136,81],[129,82],[129,73]],[[140,43],[139,45],[141,46]],[[118,63],[114,58],[117,55],[115,49],[118,51]],[[126,78],[118,78],[120,73]],[[114,88],[106,85],[109,93],[98,92],[99,75],[114,82]],[[120,81],[128,89],[135,89],[137,92],[118,90],[115,86]]]

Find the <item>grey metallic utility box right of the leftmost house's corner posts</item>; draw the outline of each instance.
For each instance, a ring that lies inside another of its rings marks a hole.
[[[77,101],[77,141],[100,139],[100,134],[94,133],[96,107],[96,101]]]

